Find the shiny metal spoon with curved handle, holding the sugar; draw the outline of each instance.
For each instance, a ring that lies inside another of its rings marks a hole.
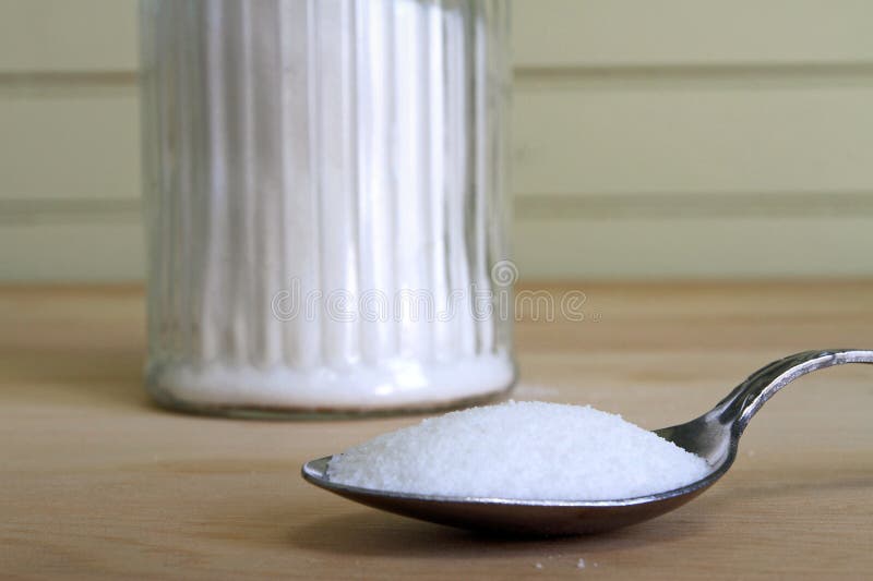
[[[789,355],[753,373],[699,417],[656,429],[655,434],[663,439],[704,458],[710,468],[703,479],[673,491],[614,500],[447,497],[359,488],[331,482],[327,477],[331,457],[307,462],[301,472],[315,486],[350,500],[451,526],[534,535],[609,531],[658,517],[701,495],[731,467],[737,458],[740,436],[765,401],[801,375],[844,363],[873,363],[873,351],[835,349]]]

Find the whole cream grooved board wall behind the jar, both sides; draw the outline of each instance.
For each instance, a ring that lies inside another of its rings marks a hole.
[[[873,2],[516,0],[526,279],[873,276]],[[0,0],[0,279],[143,276],[134,0]]]

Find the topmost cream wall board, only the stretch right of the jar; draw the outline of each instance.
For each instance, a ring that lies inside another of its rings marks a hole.
[[[527,68],[873,61],[868,0],[516,0]]]

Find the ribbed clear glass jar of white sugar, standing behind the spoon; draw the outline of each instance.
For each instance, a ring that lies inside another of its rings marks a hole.
[[[157,401],[358,413],[511,387],[506,11],[142,1]]]

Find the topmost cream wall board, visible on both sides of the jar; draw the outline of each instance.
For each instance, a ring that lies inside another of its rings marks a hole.
[[[521,68],[873,60],[868,0],[514,0]],[[3,0],[0,70],[136,66],[135,0]]]

